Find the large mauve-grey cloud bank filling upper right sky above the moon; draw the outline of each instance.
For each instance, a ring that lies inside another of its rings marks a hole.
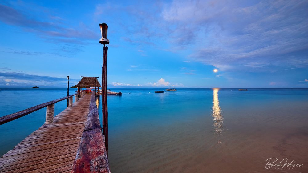
[[[307,8],[307,1],[238,4],[175,0],[162,14],[165,20],[185,26],[175,32],[192,38],[188,44],[196,43],[189,56],[194,61],[221,70],[308,66],[308,18],[300,12]],[[294,52],[298,55],[292,56]]]

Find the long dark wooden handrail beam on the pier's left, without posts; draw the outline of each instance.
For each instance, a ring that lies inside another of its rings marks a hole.
[[[84,92],[84,91],[82,91],[82,92]],[[28,115],[28,114],[30,114],[32,112],[35,112],[35,111],[40,110],[40,109],[42,109],[44,107],[47,107],[49,105],[55,104],[57,102],[60,102],[62,100],[68,99],[68,98],[73,97],[74,95],[77,95],[77,94],[80,94],[80,93],[81,92],[78,92],[78,93],[75,93],[75,94],[72,94],[72,95],[60,98],[60,99],[52,100],[50,102],[46,102],[46,103],[42,103],[42,104],[36,105],[34,107],[30,107],[30,108],[25,109],[23,111],[15,112],[13,114],[0,117],[0,125],[4,124],[4,123],[7,123],[7,122],[10,122],[10,121],[13,121],[14,119],[18,119],[20,117],[23,117],[23,116]]]

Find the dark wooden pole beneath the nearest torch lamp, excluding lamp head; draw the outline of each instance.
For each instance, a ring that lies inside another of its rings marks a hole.
[[[103,135],[105,135],[105,145],[108,155],[107,52],[108,47],[104,45],[102,73]]]

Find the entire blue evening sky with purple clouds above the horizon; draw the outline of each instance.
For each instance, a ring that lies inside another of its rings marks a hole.
[[[0,87],[100,77],[103,22],[110,87],[308,87],[307,9],[308,1],[1,1]]]

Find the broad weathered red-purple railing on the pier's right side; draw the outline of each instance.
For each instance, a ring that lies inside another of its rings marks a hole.
[[[95,95],[92,93],[88,119],[84,128],[72,173],[110,173],[105,139],[99,123]]]

